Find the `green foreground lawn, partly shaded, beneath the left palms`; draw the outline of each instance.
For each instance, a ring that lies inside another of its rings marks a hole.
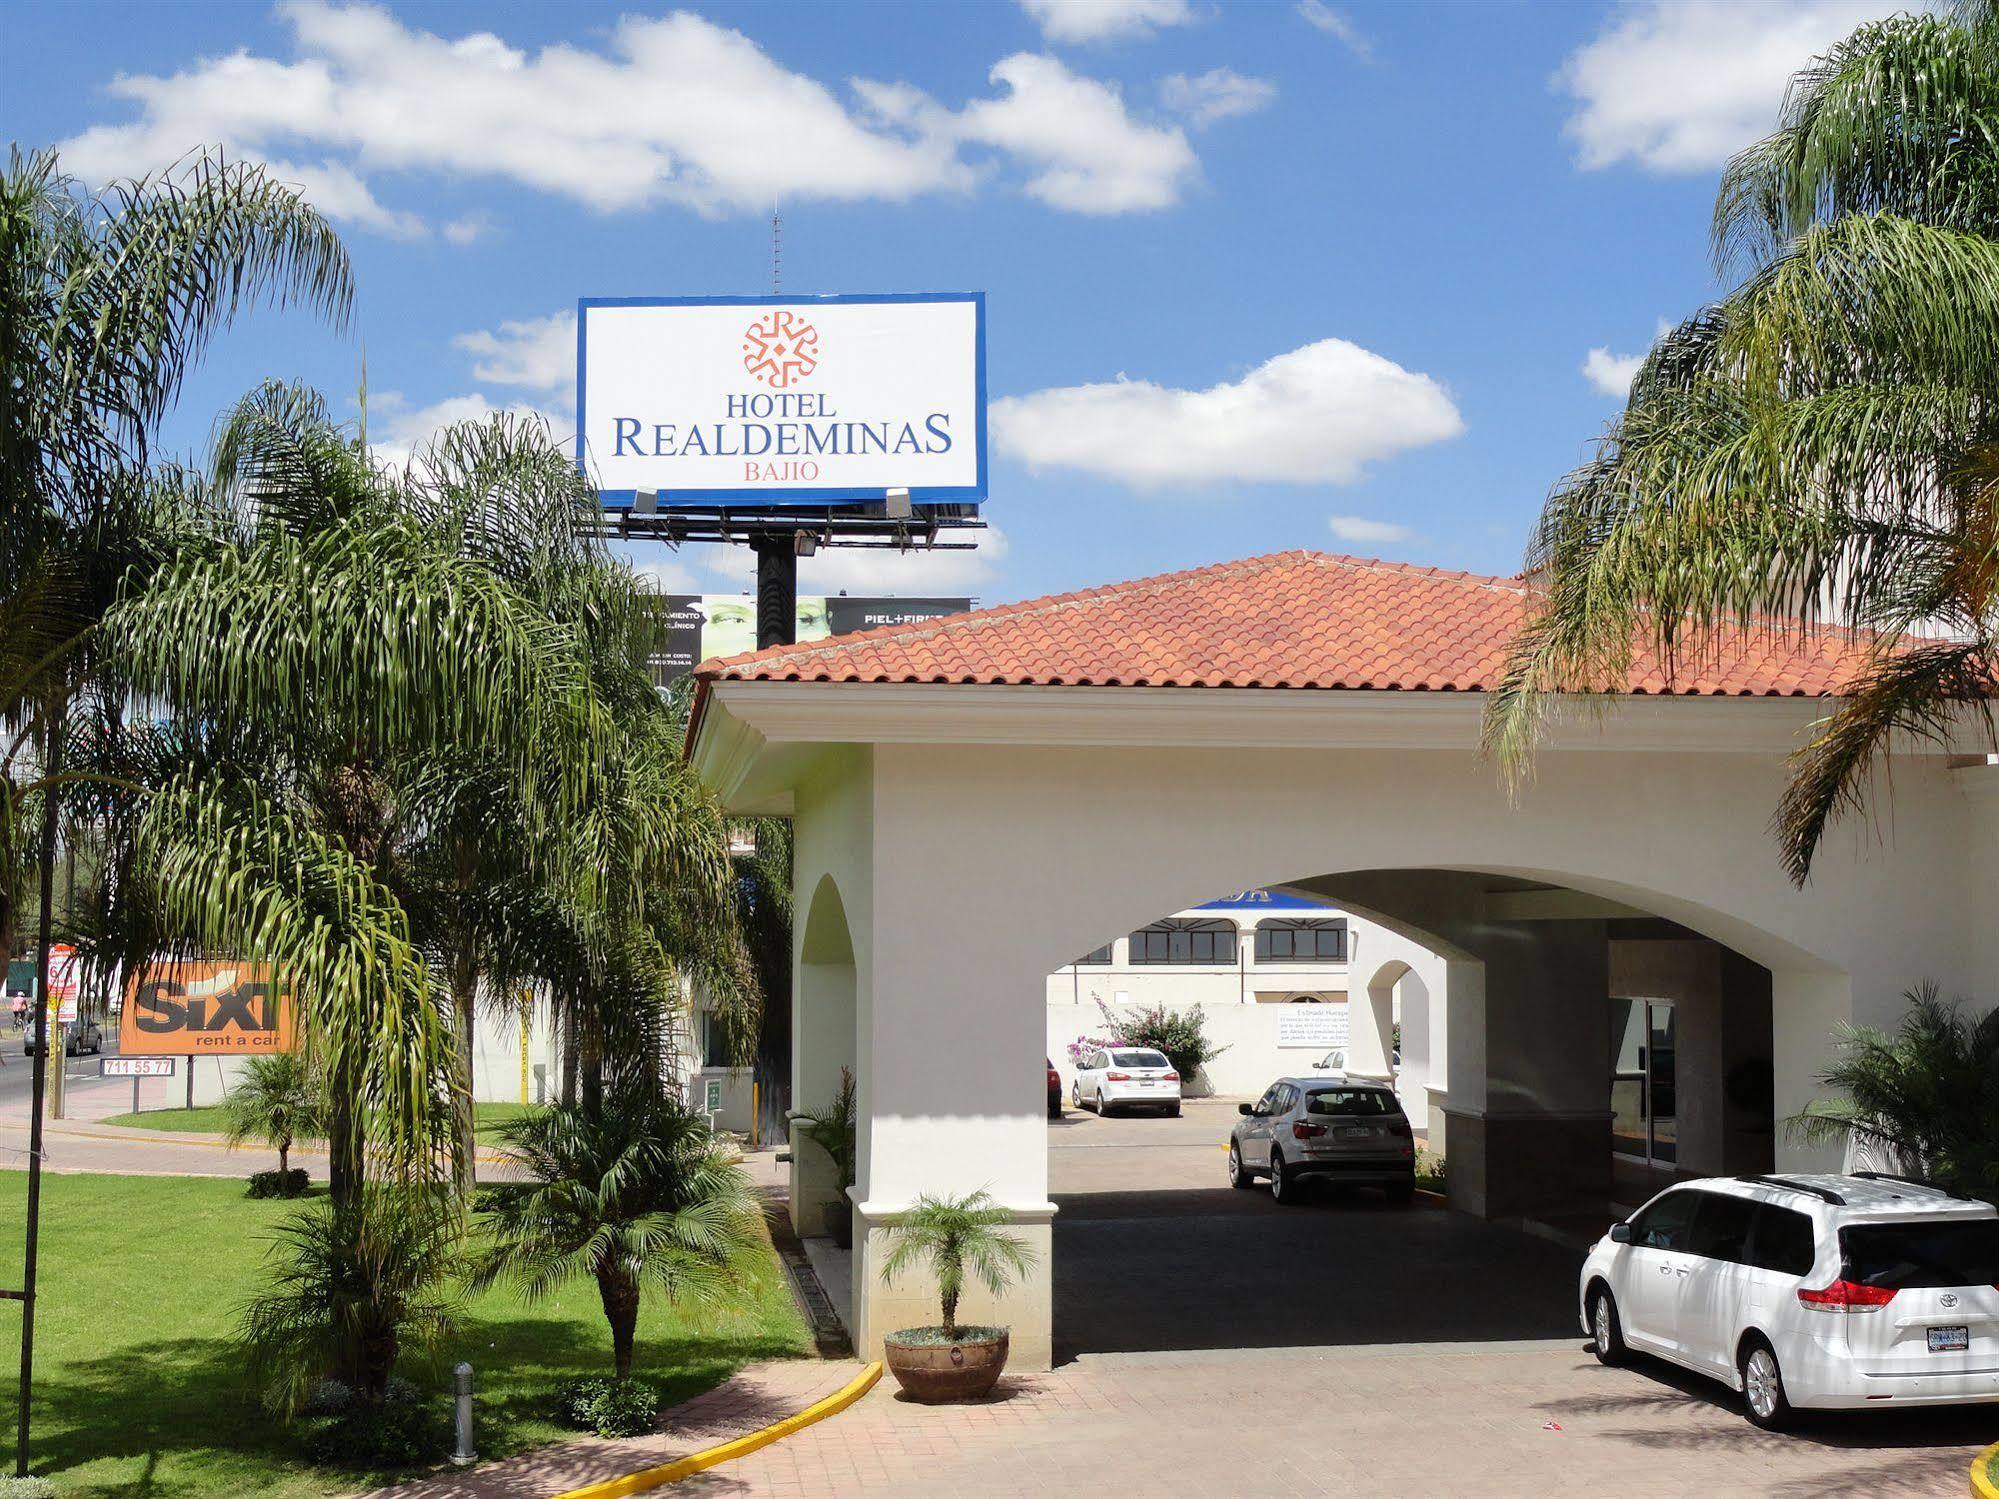
[[[316,1469],[264,1415],[232,1341],[254,1291],[268,1227],[288,1203],[248,1201],[242,1185],[196,1177],[48,1175],[42,1179],[42,1297],[36,1309],[34,1471],[64,1495],[92,1499],[318,1499],[368,1487]],[[18,1283],[26,1175],[0,1171],[0,1251]],[[18,1307],[0,1303],[14,1347]],[[784,1273],[772,1259],[754,1313],[696,1331],[648,1299],[636,1373],[686,1399],[756,1359],[810,1351]],[[528,1309],[508,1289],[470,1303],[436,1369],[410,1377],[438,1391],[450,1367],[478,1371],[482,1457],[572,1433],[548,1419],[554,1389],[610,1371],[610,1331],[594,1285],[570,1285]],[[0,1441],[12,1471],[14,1423]]]

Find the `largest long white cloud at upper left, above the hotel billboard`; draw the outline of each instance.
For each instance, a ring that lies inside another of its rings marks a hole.
[[[402,236],[424,234],[422,216],[376,192],[424,172],[600,212],[716,216],[972,192],[998,152],[1027,168],[1035,198],[1099,214],[1169,204],[1197,166],[1179,130],[1031,54],[992,70],[1003,94],[950,110],[902,82],[850,80],[844,96],[690,12],[626,16],[600,46],[538,52],[492,32],[446,38],[372,4],[284,0],[278,16],[292,60],[240,48],[120,74],[110,94],[134,116],[66,140],[64,166],[102,182],[224,146],[272,162],[326,214]],[[444,228],[454,244],[482,232],[478,216]]]

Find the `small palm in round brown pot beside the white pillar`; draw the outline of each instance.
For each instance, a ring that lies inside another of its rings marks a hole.
[[[926,1405],[970,1401],[986,1395],[1005,1369],[1005,1327],[960,1327],[958,1297],[966,1273],[988,1291],[1001,1295],[1017,1281],[1033,1251],[1001,1225],[1011,1213],[990,1193],[966,1197],[918,1197],[916,1207],[884,1221],[892,1239],[882,1261],[882,1281],[894,1281],[912,1265],[928,1263],[938,1277],[944,1321],[936,1327],[904,1327],[882,1339],[886,1363],[904,1393]]]

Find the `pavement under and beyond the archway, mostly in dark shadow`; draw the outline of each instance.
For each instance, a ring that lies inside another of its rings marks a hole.
[[[1055,1359],[1569,1337],[1581,1253],[1417,1199],[1227,1185],[1233,1099],[1049,1119]]]

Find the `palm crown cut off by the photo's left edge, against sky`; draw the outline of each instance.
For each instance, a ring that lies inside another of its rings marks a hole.
[[[22,871],[36,861],[22,803],[38,783],[74,779],[62,773],[62,730],[90,692],[92,628],[146,554],[156,512],[144,470],[160,418],[242,312],[296,304],[344,324],[352,296],[326,220],[260,166],[192,156],[92,194],[62,176],[52,152],[10,152],[0,174],[0,726],[12,740],[0,785],[0,959],[14,947]]]

